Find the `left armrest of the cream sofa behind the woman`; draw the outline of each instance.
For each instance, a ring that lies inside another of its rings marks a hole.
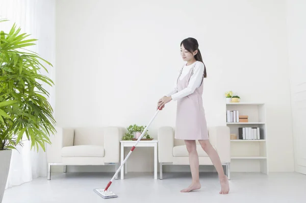
[[[158,160],[159,163],[171,163],[173,160],[174,131],[170,126],[158,130]]]

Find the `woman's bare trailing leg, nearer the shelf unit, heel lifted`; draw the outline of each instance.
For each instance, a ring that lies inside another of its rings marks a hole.
[[[220,194],[228,194],[230,191],[230,186],[228,185],[228,180],[226,175],[224,174],[222,164],[220,161],[220,157],[214,147],[211,145],[209,140],[199,140],[199,143],[203,150],[208,154],[209,158],[213,162],[219,176],[221,191]]]

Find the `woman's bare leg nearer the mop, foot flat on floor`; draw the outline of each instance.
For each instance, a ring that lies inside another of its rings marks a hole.
[[[196,151],[195,140],[185,140],[185,143],[189,153],[192,183],[188,188],[181,190],[181,192],[190,192],[192,190],[197,190],[201,188],[199,181],[199,158]]]

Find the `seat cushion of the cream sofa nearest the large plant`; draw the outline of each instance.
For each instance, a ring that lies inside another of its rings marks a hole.
[[[104,147],[98,145],[65,146],[62,157],[104,157]]]

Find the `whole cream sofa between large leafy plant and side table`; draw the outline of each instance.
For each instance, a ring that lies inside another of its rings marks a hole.
[[[50,137],[52,145],[46,148],[48,180],[52,165],[64,166],[64,172],[67,165],[114,165],[114,171],[120,166],[120,140],[124,134],[122,128],[57,127],[56,130],[57,134]]]

